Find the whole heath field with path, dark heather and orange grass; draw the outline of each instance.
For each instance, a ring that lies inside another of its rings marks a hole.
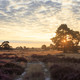
[[[0,80],[80,80],[80,53],[0,51]]]

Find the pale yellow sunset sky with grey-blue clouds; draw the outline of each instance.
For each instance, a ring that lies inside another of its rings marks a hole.
[[[61,24],[80,31],[80,0],[0,0],[0,42],[40,47]]]

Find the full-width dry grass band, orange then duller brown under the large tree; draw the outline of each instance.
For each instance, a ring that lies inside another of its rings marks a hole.
[[[64,55],[65,57],[72,57],[72,58],[80,58],[80,54],[77,53],[63,53],[62,51],[57,50],[49,50],[49,51],[27,51],[27,50],[6,50],[6,51],[0,51],[0,54],[16,54],[19,57],[23,56],[31,56],[32,54],[38,54],[38,55]]]

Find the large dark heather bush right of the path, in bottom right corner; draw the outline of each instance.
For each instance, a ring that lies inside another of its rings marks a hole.
[[[50,67],[52,80],[80,80],[80,71],[71,67],[54,65]]]

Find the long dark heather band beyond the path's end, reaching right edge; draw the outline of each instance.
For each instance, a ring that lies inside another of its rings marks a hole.
[[[78,58],[70,58],[70,57],[65,57],[63,55],[61,56],[55,56],[55,55],[32,55],[32,58],[39,59],[39,61],[48,63],[48,62],[53,62],[53,63],[58,63],[58,62],[65,62],[65,63],[78,63],[80,64],[80,59]]]

